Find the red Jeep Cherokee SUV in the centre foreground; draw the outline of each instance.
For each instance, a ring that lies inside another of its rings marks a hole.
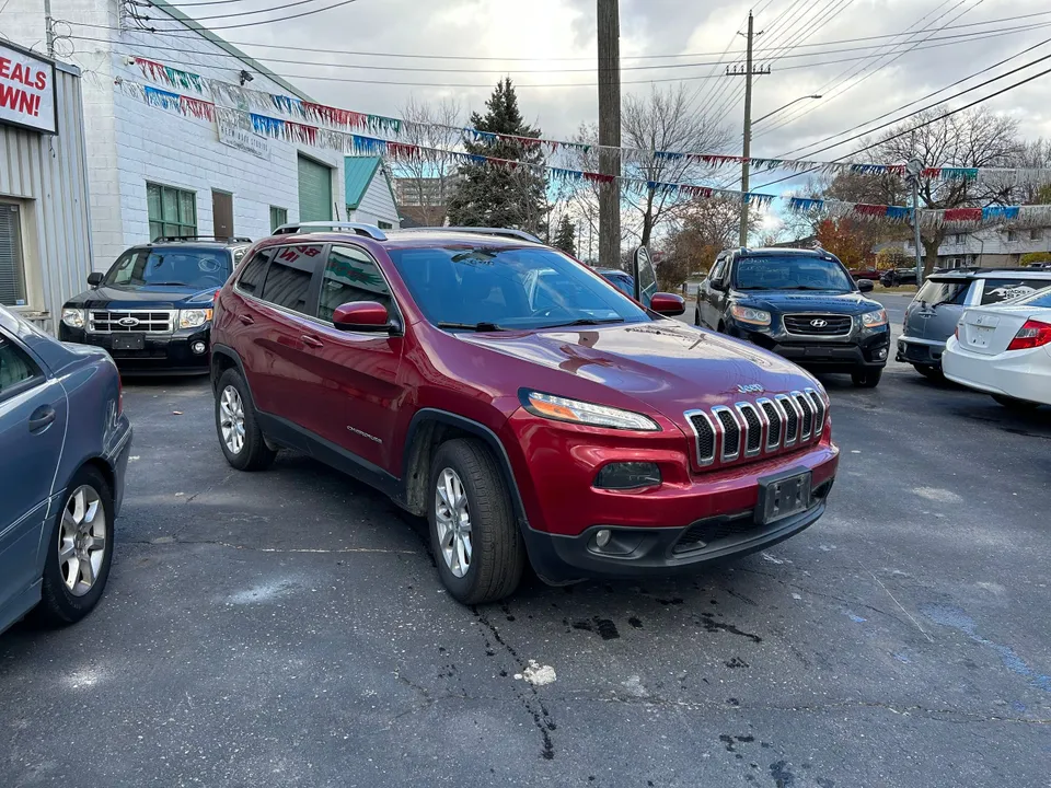
[[[694,567],[824,511],[829,402],[777,356],[642,308],[511,231],[281,228],[216,302],[235,468],[305,452],[430,523],[461,602]],[[342,231],[332,231],[336,230]]]

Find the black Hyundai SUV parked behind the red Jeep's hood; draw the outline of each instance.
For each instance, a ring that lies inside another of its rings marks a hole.
[[[694,323],[874,387],[890,327],[883,308],[862,294],[871,289],[823,250],[727,250],[701,282]]]

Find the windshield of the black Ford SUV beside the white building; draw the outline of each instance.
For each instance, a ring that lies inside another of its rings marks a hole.
[[[230,277],[226,250],[134,250],[114,263],[103,283],[116,287],[222,287]]]

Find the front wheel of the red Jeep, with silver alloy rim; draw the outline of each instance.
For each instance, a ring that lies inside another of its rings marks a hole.
[[[438,573],[457,600],[484,604],[515,592],[526,545],[504,476],[484,444],[457,439],[439,447],[427,514]]]

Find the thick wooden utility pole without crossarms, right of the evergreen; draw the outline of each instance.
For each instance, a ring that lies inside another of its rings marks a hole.
[[[620,0],[597,0],[599,44],[599,263],[621,263],[621,11]]]

